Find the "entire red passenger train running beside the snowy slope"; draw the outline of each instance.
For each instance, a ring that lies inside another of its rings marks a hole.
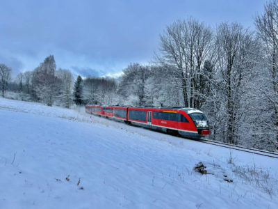
[[[206,116],[194,108],[183,107],[121,107],[85,105],[89,114],[113,118],[128,124],[148,127],[171,134],[199,139],[209,134]]]

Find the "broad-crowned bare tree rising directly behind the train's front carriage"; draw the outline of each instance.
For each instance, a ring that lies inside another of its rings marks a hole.
[[[202,69],[205,60],[211,59],[213,51],[213,32],[204,24],[193,18],[177,21],[167,26],[161,35],[161,54],[159,63],[172,65],[183,91],[184,105],[200,108],[204,105],[204,85]]]

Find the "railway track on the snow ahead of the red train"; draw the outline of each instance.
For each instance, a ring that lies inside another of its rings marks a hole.
[[[220,141],[213,141],[213,140],[209,140],[209,139],[199,139],[198,141],[201,141],[202,143],[206,143],[206,144],[212,144],[215,146],[222,146],[224,148],[230,148],[233,150],[240,150],[246,153],[253,153],[256,155],[263,155],[266,157],[272,157],[272,158],[277,158],[278,159],[278,153],[272,153],[266,150],[258,150],[258,149],[254,149],[254,148],[246,148],[244,146],[238,146],[238,145],[234,145],[234,144],[227,144],[224,142],[220,142]]]

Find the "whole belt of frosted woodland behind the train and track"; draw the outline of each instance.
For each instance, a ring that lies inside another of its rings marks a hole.
[[[265,4],[254,30],[237,22],[212,28],[193,17],[161,31],[148,65],[130,63],[122,77],[81,77],[56,69],[54,55],[11,77],[0,63],[3,98],[48,106],[181,106],[204,111],[211,139],[278,151],[278,3]],[[136,49],[135,49],[136,50]]]

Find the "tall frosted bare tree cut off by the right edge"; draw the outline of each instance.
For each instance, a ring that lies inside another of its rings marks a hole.
[[[265,73],[267,84],[259,91],[270,104],[268,111],[271,114],[271,126],[276,134],[276,147],[278,149],[278,1],[270,1],[265,5],[263,15],[258,15],[255,20],[258,36],[263,45],[264,63],[268,69]]]

